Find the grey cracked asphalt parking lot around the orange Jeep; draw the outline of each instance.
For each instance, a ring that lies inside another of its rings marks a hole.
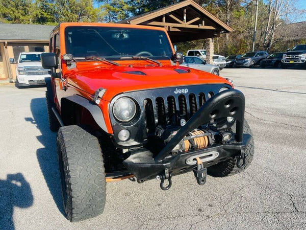
[[[224,69],[246,97],[255,157],[243,173],[107,185],[105,212],[70,223],[63,215],[56,133],[48,129],[44,87],[0,85],[0,229],[306,228],[306,71]]]

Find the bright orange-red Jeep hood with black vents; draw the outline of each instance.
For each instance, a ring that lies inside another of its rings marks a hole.
[[[182,66],[141,66],[141,67],[95,67],[90,70],[74,71],[67,82],[94,95],[102,87],[106,89],[104,100],[127,91],[150,88],[179,87],[195,84],[229,84],[226,79],[203,71]],[[179,72],[184,73],[179,73]]]

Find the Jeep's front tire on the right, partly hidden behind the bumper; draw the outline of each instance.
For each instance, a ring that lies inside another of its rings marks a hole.
[[[233,125],[232,131],[236,132],[236,123]],[[242,172],[243,170],[249,167],[254,156],[254,140],[253,140],[252,131],[249,125],[247,124],[246,120],[244,120],[243,133],[248,133],[251,135],[251,140],[245,150],[246,154],[245,167],[243,167],[242,169],[238,168],[237,157],[231,157],[230,159],[227,159],[224,162],[220,162],[217,165],[209,167],[208,172],[212,176],[216,177],[232,176]]]

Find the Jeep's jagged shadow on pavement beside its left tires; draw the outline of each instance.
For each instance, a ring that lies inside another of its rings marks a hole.
[[[45,98],[32,99],[30,107],[34,119],[24,119],[35,125],[41,132],[37,140],[43,145],[43,148],[36,151],[39,166],[57,208],[65,216],[57,162],[56,133],[49,129]]]

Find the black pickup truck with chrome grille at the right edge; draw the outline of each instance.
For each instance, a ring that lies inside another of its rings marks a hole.
[[[283,54],[282,68],[290,66],[306,67],[306,44],[295,45],[292,50]]]

